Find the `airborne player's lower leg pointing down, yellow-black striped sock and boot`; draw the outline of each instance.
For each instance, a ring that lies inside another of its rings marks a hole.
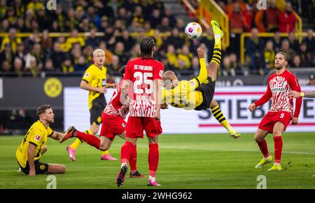
[[[216,120],[218,120],[218,122],[221,123],[221,125],[223,125],[226,130],[228,130],[230,137],[232,137],[233,139],[239,139],[239,137],[241,137],[241,134],[239,134],[239,132],[237,132],[225,118],[220,109],[220,106],[218,105],[218,102],[216,102],[215,99],[212,99],[210,109],[212,114],[214,115],[214,118],[216,118]]]

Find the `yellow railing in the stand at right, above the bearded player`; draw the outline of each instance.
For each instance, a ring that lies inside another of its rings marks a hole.
[[[300,38],[307,36],[306,32],[301,32],[301,33],[297,33],[297,36],[299,36]],[[267,37],[274,37],[274,33],[273,32],[260,32],[258,33],[259,37],[263,37],[263,38],[267,38]],[[281,37],[288,37],[288,33],[280,33]],[[315,33],[313,34],[313,36],[315,36]],[[242,33],[241,34],[241,65],[244,66],[245,64],[245,38],[246,37],[251,37],[251,32],[246,32],[246,33]]]

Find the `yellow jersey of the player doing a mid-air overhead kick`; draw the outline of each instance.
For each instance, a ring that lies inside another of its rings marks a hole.
[[[170,104],[186,110],[195,109],[203,102],[202,92],[196,91],[207,80],[207,66],[204,58],[200,59],[200,74],[192,80],[181,80],[172,89],[162,90],[162,104]]]

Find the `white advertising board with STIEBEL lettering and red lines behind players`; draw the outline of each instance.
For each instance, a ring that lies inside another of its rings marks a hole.
[[[262,97],[265,86],[217,87],[214,98],[221,106],[225,117],[239,132],[255,132],[270,103],[258,107],[251,113],[247,107]],[[314,86],[302,86],[302,91],[314,90]],[[113,89],[108,89],[109,101]],[[80,109],[80,111],[78,111]],[[64,130],[69,125],[85,130],[89,127],[87,92],[79,87],[64,88]],[[289,132],[315,132],[315,99],[304,98],[299,125],[289,125]],[[186,111],[169,106],[161,110],[161,123],[164,134],[226,133],[226,130],[212,116],[210,109],[204,111]]]

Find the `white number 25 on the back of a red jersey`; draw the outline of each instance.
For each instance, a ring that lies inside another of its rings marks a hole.
[[[139,88],[139,85],[146,84],[148,85],[146,87],[146,94],[152,94],[153,92],[153,80],[150,80],[148,78],[151,78],[153,76],[153,73],[141,73],[141,72],[135,72],[134,78],[137,78],[136,81],[134,81],[134,93],[136,94],[143,94],[144,90]]]

